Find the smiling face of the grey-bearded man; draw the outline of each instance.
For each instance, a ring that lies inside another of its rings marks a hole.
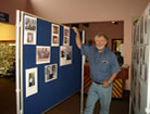
[[[107,39],[104,37],[97,37],[95,41],[97,49],[102,51],[107,45]]]

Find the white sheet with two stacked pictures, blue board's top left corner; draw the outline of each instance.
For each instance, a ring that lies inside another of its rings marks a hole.
[[[24,16],[24,45],[36,45],[37,18]]]

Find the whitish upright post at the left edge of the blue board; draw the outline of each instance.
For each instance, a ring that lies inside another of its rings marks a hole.
[[[22,17],[22,12],[20,10],[16,11],[16,48],[15,48],[15,60],[16,60],[16,64],[15,64],[15,87],[16,87],[16,114],[23,114],[23,85],[22,85],[22,71],[21,71],[21,46],[22,46],[22,40],[21,37],[23,35],[22,33],[22,25],[21,22],[23,18]]]

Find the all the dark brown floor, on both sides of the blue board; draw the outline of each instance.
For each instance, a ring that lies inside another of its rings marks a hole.
[[[84,104],[86,102],[84,97]],[[0,78],[0,114],[16,114],[15,81],[12,78]],[[84,105],[85,106],[85,105]],[[99,114],[99,102],[96,104],[95,113]],[[129,114],[129,92],[125,91],[121,100],[113,99],[110,114]],[[50,109],[45,114],[80,114],[80,96],[78,93],[70,97],[59,105]]]

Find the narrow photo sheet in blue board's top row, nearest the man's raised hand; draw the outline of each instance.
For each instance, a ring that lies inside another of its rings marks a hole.
[[[70,46],[70,27],[64,26],[63,46]]]

